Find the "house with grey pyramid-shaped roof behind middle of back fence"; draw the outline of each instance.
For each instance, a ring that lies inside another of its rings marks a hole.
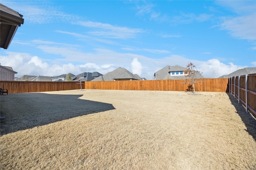
[[[132,74],[125,68],[119,67],[116,70],[108,72],[92,81],[118,81],[118,80],[141,80],[138,74]]]

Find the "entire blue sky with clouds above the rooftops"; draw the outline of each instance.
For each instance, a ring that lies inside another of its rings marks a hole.
[[[166,65],[206,78],[256,67],[256,1],[1,0],[23,15],[0,63],[22,75],[124,67],[154,79]]]

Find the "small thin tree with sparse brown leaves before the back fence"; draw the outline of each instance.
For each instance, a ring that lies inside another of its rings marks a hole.
[[[189,63],[187,65],[187,69],[184,70],[184,74],[185,74],[185,84],[192,84],[193,85],[193,93],[195,93],[195,83],[198,82],[199,75],[201,75],[202,73],[198,72],[196,70],[196,66],[193,63]],[[192,86],[188,85],[188,90],[192,91]]]

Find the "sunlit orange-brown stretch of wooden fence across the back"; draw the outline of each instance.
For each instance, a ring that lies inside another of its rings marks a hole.
[[[195,84],[197,92],[228,92],[228,78],[204,78]],[[187,91],[184,80],[133,80],[84,82],[85,89]]]

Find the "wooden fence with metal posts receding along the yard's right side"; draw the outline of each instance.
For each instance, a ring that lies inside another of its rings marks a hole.
[[[256,118],[256,74],[228,79],[229,92]]]

